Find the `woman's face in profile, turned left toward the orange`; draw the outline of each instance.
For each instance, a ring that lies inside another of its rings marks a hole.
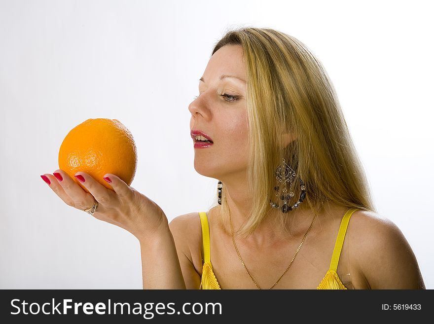
[[[188,106],[190,131],[202,131],[213,142],[194,144],[192,134],[196,146],[194,168],[203,176],[245,177],[248,158],[245,80],[242,47],[223,46],[208,62],[199,81],[199,96]]]

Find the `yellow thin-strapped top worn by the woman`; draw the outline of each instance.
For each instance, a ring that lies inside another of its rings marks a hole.
[[[341,282],[336,270],[339,263],[339,256],[341,254],[342,245],[347,232],[348,222],[351,215],[357,209],[348,210],[342,217],[339,232],[337,234],[336,243],[334,245],[333,254],[331,256],[330,267],[325,273],[325,276],[317,289],[347,289]],[[213,265],[211,264],[210,254],[210,229],[208,226],[208,218],[205,212],[200,212],[200,222],[202,225],[202,244],[204,250],[204,264],[202,267],[202,279],[199,289],[221,289],[218,284],[217,278],[213,272]]]

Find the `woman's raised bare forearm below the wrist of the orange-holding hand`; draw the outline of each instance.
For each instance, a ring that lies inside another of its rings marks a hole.
[[[139,240],[144,289],[185,289],[169,225],[152,239]]]

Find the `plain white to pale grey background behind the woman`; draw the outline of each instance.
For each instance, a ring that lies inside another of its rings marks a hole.
[[[194,170],[188,104],[213,45],[243,26],[294,36],[324,64],[378,212],[434,288],[429,2],[0,0],[0,288],[142,288],[137,239],[39,176],[75,125],[115,118],[138,148],[132,186],[170,219],[206,211],[217,180]]]

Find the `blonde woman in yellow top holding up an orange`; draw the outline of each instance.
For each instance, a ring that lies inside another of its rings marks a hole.
[[[144,288],[425,288],[398,227],[375,214],[333,86],[303,43],[228,32],[189,110],[195,170],[219,180],[206,213],[169,224],[115,175],[111,191],[77,173],[91,194],[62,170],[45,175],[68,205],[139,239]]]

